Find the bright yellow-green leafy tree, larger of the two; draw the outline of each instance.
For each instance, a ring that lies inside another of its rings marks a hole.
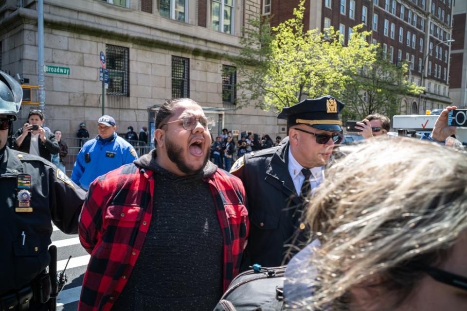
[[[294,9],[294,18],[270,28],[269,21],[251,21],[258,30],[245,30],[243,50],[235,63],[240,76],[238,104],[251,102],[265,110],[280,111],[304,97],[333,95],[342,98],[345,87],[363,66],[375,61],[376,47],[367,41],[370,32],[361,26],[347,46],[343,35],[327,29],[304,31],[305,0]]]

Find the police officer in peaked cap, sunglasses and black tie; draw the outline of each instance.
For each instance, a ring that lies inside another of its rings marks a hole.
[[[243,181],[251,222],[242,270],[254,263],[279,266],[288,261],[289,247],[299,246],[294,237],[297,229],[305,232],[305,198],[323,180],[333,147],[343,139],[343,106],[324,96],[284,108],[277,118],[287,120],[288,137],[234,163],[230,172]]]

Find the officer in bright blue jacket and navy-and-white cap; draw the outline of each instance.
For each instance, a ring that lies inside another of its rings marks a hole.
[[[100,175],[104,175],[138,158],[135,149],[115,133],[115,120],[107,115],[97,121],[99,135],[88,140],[76,156],[72,181],[84,190]]]

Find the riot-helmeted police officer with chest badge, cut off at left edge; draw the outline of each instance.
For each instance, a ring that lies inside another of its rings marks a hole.
[[[21,86],[0,71],[1,311],[52,308],[51,278],[45,271],[52,221],[65,233],[77,233],[86,195],[51,162],[7,146],[21,100]]]

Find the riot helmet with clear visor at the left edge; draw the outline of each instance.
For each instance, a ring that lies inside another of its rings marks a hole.
[[[0,114],[18,120],[19,107],[23,99],[21,85],[10,75],[0,71]]]

